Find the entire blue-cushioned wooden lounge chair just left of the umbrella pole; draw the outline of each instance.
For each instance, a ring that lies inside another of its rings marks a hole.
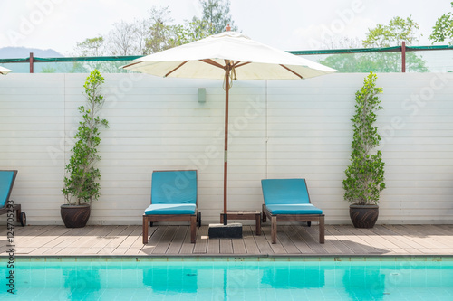
[[[190,241],[195,243],[201,213],[197,208],[197,171],[154,171],[151,204],[143,213],[143,244],[148,243],[148,224],[155,221],[190,221]]]

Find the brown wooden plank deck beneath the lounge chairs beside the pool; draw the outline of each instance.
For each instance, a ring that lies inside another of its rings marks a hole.
[[[379,225],[359,230],[349,225],[326,225],[325,244],[318,227],[279,225],[277,244],[270,243],[265,223],[261,236],[244,226],[243,239],[207,239],[207,226],[198,228],[190,243],[188,226],[149,228],[147,245],[141,226],[63,226],[14,228],[14,256],[452,256],[453,225]],[[7,230],[0,230],[0,256],[7,256]]]

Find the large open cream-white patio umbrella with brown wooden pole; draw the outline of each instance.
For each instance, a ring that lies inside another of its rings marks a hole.
[[[122,68],[161,77],[225,80],[224,223],[227,224],[228,94],[230,80],[307,79],[336,70],[255,42],[242,33],[211,35],[134,60]]]

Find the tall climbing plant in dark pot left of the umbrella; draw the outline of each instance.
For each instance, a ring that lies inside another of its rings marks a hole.
[[[72,155],[65,169],[68,173],[64,177],[63,195],[66,203],[61,206],[64,225],[68,228],[81,228],[86,225],[90,217],[91,202],[97,200],[100,193],[101,173],[95,167],[101,159],[97,146],[101,143],[99,137],[101,127],[109,127],[106,119],[98,114],[104,103],[101,95],[101,85],[104,82],[101,73],[97,70],[85,80],[86,108],[79,107],[82,121],[75,135],[75,145]]]

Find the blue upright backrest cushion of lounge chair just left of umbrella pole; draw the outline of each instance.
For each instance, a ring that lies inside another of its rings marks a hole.
[[[162,171],[152,173],[151,203],[197,202],[197,171]]]

